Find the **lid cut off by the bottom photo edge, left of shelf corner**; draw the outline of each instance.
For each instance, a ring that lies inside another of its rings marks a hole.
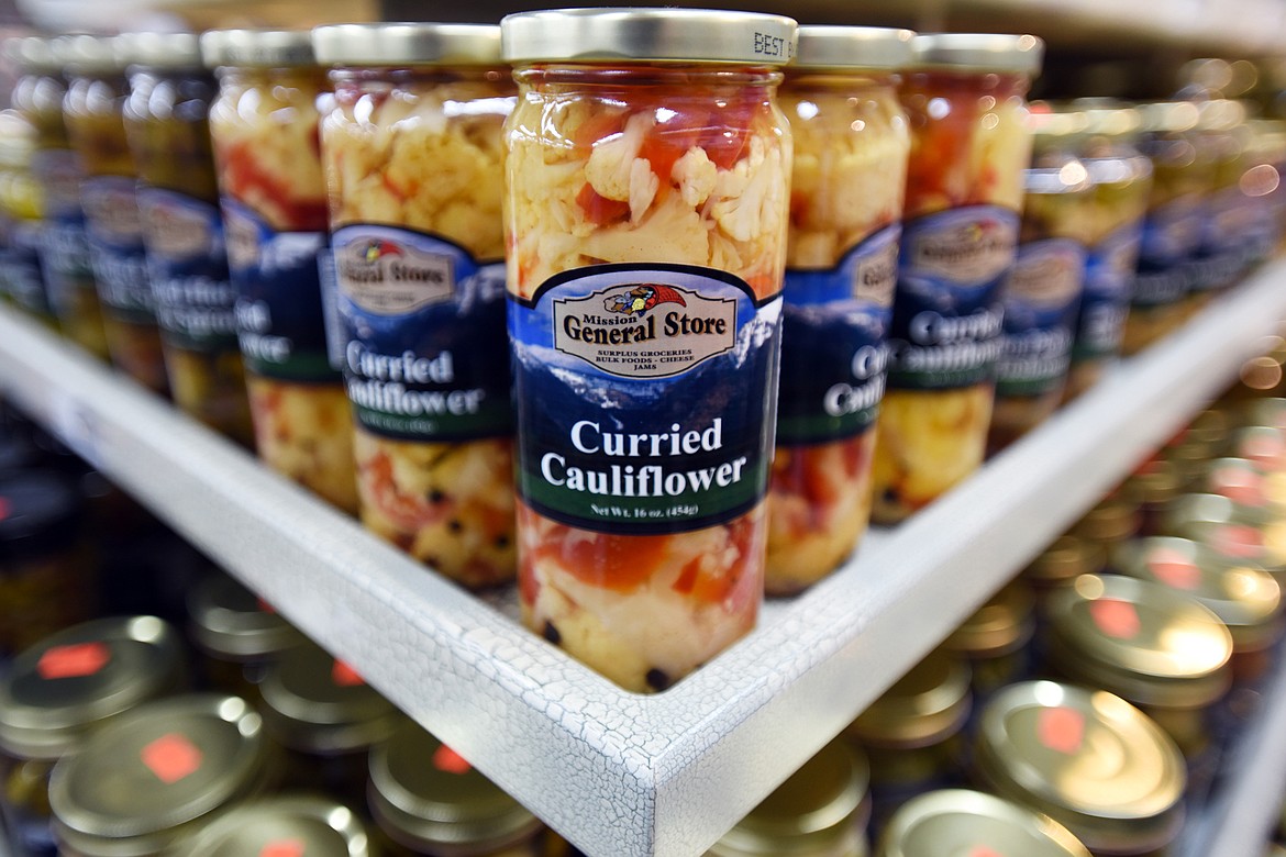
[[[319,795],[282,794],[242,804],[176,842],[167,857],[369,857],[365,825]]]

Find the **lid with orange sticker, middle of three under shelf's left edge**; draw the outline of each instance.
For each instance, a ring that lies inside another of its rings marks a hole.
[[[388,738],[399,720],[391,702],[312,642],[283,651],[258,690],[269,734],[306,753],[364,750]]]

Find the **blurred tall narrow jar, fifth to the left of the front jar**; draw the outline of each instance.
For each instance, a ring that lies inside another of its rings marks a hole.
[[[21,75],[14,84],[13,107],[36,128],[31,175],[44,197],[39,256],[49,306],[63,334],[103,360],[108,358],[103,311],[89,262],[85,212],[80,182],[84,177],[67,139],[63,99],[67,84],[55,39],[24,36],[6,42]]]

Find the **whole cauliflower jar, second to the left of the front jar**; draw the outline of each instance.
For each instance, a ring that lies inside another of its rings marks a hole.
[[[305,31],[213,31],[201,45],[219,68],[210,135],[255,447],[356,514],[352,410],[327,352],[319,269],[329,254],[318,137],[325,72]]]

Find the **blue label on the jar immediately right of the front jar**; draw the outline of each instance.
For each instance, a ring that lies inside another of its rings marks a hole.
[[[900,235],[900,226],[889,226],[831,270],[786,272],[778,443],[824,443],[874,423],[887,376]]]

